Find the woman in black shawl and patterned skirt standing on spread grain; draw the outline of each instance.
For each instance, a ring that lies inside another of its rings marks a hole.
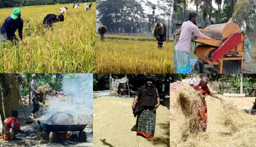
[[[134,117],[137,116],[137,134],[146,138],[153,138],[156,125],[156,108],[160,104],[158,91],[155,87],[155,79],[147,77],[146,83],[136,93],[132,109]]]

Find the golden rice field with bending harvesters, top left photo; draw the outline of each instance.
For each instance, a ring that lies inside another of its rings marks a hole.
[[[43,18],[69,9],[64,22],[54,23],[53,30],[42,35]],[[0,25],[13,8],[0,9]],[[89,12],[73,4],[21,7],[24,20],[23,43],[0,46],[0,72],[94,72],[96,63],[96,3]],[[18,37],[18,32],[16,31]],[[18,37],[19,38],[19,37]]]

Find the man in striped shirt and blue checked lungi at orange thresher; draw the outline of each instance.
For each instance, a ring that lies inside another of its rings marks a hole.
[[[190,63],[190,51],[191,51],[191,39],[194,34],[202,38],[210,38],[205,36],[196,26],[197,14],[189,13],[188,21],[182,24],[181,35],[175,46],[176,58],[177,58],[177,73],[178,74],[191,74]]]

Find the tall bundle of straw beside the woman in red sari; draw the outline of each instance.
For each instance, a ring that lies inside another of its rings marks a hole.
[[[190,86],[184,85],[179,87],[177,90],[177,105],[178,108],[183,112],[186,123],[184,124],[185,129],[189,132],[197,132],[198,124],[197,117],[202,101],[198,93]]]

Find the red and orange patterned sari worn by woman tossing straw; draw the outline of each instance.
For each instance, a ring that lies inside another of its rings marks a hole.
[[[205,96],[206,94],[210,94],[211,91],[207,86],[201,88],[200,86],[196,85],[193,86],[193,88],[196,91],[199,91],[198,97],[200,97],[202,101],[201,105],[196,106],[198,107],[198,113],[197,116],[195,116],[195,120],[197,121],[198,124],[196,128],[198,129],[198,132],[205,132],[207,129],[207,103],[205,101]]]

